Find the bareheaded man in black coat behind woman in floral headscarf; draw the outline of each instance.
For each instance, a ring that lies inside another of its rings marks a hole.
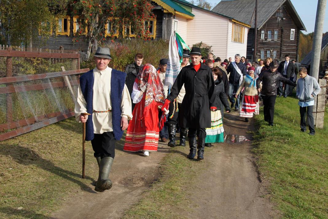
[[[127,74],[126,79],[125,79],[125,84],[128,87],[130,97],[131,97],[131,94],[133,91],[133,83],[139,73],[139,70],[142,67],[142,60],[143,60],[143,55],[141,53],[137,53],[134,56],[134,62],[130,65],[127,65],[125,68],[125,73]],[[132,111],[133,111],[134,105],[135,105],[135,103],[132,103]]]

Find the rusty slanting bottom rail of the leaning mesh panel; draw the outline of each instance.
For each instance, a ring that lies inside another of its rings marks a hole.
[[[69,113],[66,113],[66,114],[59,115],[57,117],[53,117],[53,118],[48,119],[48,120],[44,120],[44,121],[37,122],[37,123],[31,124],[31,125],[28,125],[28,126],[25,126],[25,127],[22,127],[22,128],[18,128],[16,130],[1,134],[0,135],[0,141],[4,141],[4,140],[7,140],[7,139],[16,137],[18,135],[22,135],[22,134],[34,131],[36,129],[45,127],[47,125],[51,125],[53,123],[56,123],[56,122],[61,121],[61,120],[68,119],[68,118],[73,117],[73,116],[74,116],[74,112],[72,111],[72,112],[69,112]]]

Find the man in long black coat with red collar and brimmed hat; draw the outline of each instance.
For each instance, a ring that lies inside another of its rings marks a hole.
[[[211,127],[210,107],[215,102],[214,79],[212,69],[200,62],[201,51],[198,47],[193,47],[190,52],[192,65],[183,67],[176,78],[171,93],[165,100],[162,110],[168,109],[179,94],[182,85],[186,89],[186,94],[182,101],[180,123],[182,127],[189,128],[188,138],[190,153],[189,159],[194,159],[197,152],[197,159],[204,159],[204,147],[206,128]],[[212,107],[216,109],[216,107]],[[196,136],[198,141],[196,141]]]

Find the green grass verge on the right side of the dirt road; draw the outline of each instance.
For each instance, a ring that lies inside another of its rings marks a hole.
[[[275,126],[256,116],[253,149],[271,201],[283,218],[328,218],[328,109],[316,135],[300,132],[298,100],[277,98]]]

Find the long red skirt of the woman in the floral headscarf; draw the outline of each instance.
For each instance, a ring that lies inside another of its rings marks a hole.
[[[133,109],[126,132],[123,150],[125,151],[157,151],[159,137],[158,104],[153,101],[147,113],[144,113],[145,98]],[[147,115],[146,115],[147,114]]]

